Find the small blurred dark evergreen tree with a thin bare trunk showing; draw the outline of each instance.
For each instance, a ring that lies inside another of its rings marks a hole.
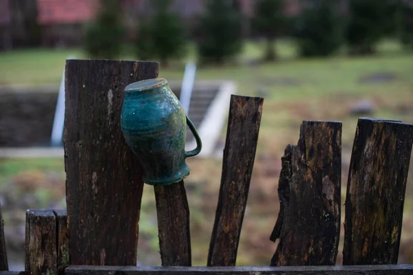
[[[274,49],[275,39],[285,29],[288,20],[284,14],[284,0],[258,0],[255,3],[253,28],[267,40],[264,59],[273,61],[277,58]]]

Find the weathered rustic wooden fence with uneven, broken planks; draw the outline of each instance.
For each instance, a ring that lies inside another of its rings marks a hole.
[[[183,181],[154,187],[162,267],[136,267],[144,184],[120,130],[120,110],[126,85],[156,77],[155,62],[67,61],[67,212],[28,210],[25,272],[7,272],[2,237],[0,275],[413,274],[413,265],[397,265],[413,125],[373,118],[360,118],[354,137],[343,265],[335,265],[341,122],[308,120],[282,157],[280,211],[268,232],[279,240],[271,263],[235,267],[264,102],[247,96],[231,96],[207,267],[191,267]]]

